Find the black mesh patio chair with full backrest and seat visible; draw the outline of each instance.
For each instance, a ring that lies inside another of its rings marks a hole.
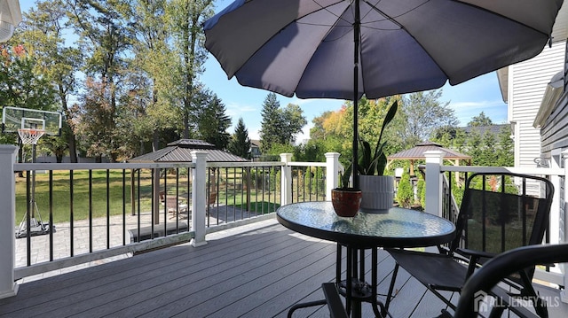
[[[454,294],[461,291],[469,275],[485,261],[519,246],[542,243],[553,193],[552,183],[537,176],[471,175],[456,218],[456,237],[448,246],[438,246],[438,252],[389,250],[396,265],[385,302],[387,310],[400,267],[447,307],[455,309]],[[536,296],[531,284],[533,274],[534,266],[518,271],[507,280],[515,287],[518,297]],[[545,305],[538,302],[537,311],[546,316]]]

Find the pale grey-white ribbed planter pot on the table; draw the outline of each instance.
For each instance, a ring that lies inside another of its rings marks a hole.
[[[360,211],[385,213],[394,202],[394,177],[392,175],[359,175],[359,188],[363,198]]]

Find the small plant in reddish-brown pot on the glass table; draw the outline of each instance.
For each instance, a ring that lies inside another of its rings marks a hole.
[[[359,212],[361,191],[349,187],[349,178],[353,169],[352,163],[345,169],[339,178],[338,188],[331,190],[331,204],[339,216],[351,217]]]

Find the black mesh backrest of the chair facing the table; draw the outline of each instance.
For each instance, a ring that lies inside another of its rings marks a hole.
[[[554,186],[547,179],[512,173],[471,175],[450,250],[501,253],[542,243]]]

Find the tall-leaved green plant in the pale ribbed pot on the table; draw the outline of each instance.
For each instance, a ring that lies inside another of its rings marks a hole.
[[[398,102],[390,105],[389,111],[383,120],[381,133],[376,142],[375,149],[367,141],[359,138],[359,188],[361,211],[366,213],[382,213],[392,207],[394,202],[394,177],[383,175],[387,165],[387,156],[384,153],[386,142],[382,142],[384,129],[389,125],[398,110]]]

